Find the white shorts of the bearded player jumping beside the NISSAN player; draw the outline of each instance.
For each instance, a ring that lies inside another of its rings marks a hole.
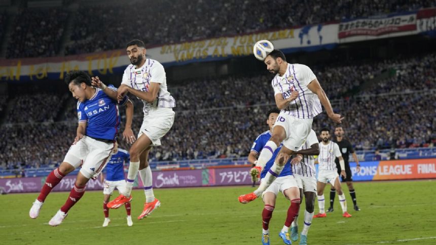
[[[161,145],[161,138],[168,133],[174,123],[175,113],[171,108],[154,107],[144,116],[138,138],[145,134],[152,141],[152,146]]]

